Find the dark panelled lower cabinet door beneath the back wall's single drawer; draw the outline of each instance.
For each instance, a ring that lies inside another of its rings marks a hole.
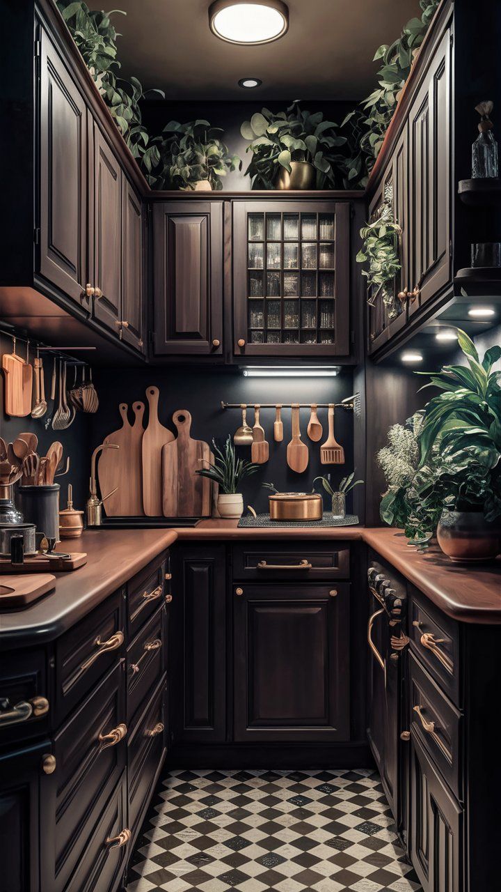
[[[234,585],[234,739],[349,739],[349,584]]]

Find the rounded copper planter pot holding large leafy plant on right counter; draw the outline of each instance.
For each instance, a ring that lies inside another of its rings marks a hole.
[[[437,541],[452,561],[493,560],[501,551],[501,524],[489,524],[482,511],[444,511]]]

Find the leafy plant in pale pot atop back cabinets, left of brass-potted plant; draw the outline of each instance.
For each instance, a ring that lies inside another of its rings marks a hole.
[[[222,189],[221,177],[240,169],[242,161],[221,142],[222,129],[208,120],[180,124],[170,120],[153,139],[160,156],[157,189]]]

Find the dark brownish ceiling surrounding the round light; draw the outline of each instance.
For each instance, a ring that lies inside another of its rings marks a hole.
[[[227,44],[209,30],[209,0],[118,0],[124,74],[168,99],[359,99],[374,86],[374,51],[420,14],[418,0],[289,0],[290,28],[275,43]],[[102,9],[103,0],[89,0]],[[257,90],[237,86],[261,78]]]

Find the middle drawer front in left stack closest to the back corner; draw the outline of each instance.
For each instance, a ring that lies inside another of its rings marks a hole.
[[[137,709],[165,672],[165,631],[166,608],[162,607],[127,649],[127,723],[132,722]]]

